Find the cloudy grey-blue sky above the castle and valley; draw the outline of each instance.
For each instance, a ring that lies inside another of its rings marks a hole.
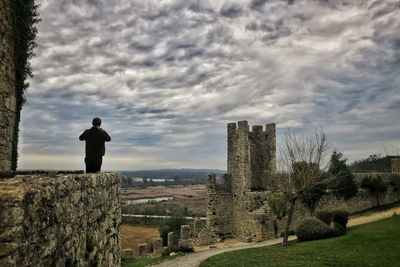
[[[226,124],[322,127],[349,161],[400,149],[398,0],[41,0],[19,169],[226,169]]]

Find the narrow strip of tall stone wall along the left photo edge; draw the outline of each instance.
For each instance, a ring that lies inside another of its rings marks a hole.
[[[15,67],[10,2],[0,0],[0,172],[10,171],[16,116]]]

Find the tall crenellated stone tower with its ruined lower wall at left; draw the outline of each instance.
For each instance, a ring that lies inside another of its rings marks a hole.
[[[265,239],[271,232],[262,208],[276,172],[275,124],[228,124],[228,173],[207,177],[207,226],[222,235]]]

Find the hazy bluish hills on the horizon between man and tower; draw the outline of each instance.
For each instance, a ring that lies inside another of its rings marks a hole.
[[[141,170],[141,171],[121,171],[126,177],[143,177],[148,179],[188,179],[204,180],[210,172],[223,174],[226,171],[215,169],[161,169],[161,170]]]

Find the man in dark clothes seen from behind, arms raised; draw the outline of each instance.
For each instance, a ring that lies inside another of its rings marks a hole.
[[[101,119],[94,118],[92,121],[93,127],[85,130],[79,140],[86,141],[85,146],[85,163],[86,173],[99,172],[103,162],[103,156],[106,152],[105,142],[110,142],[111,137],[101,126]]]

